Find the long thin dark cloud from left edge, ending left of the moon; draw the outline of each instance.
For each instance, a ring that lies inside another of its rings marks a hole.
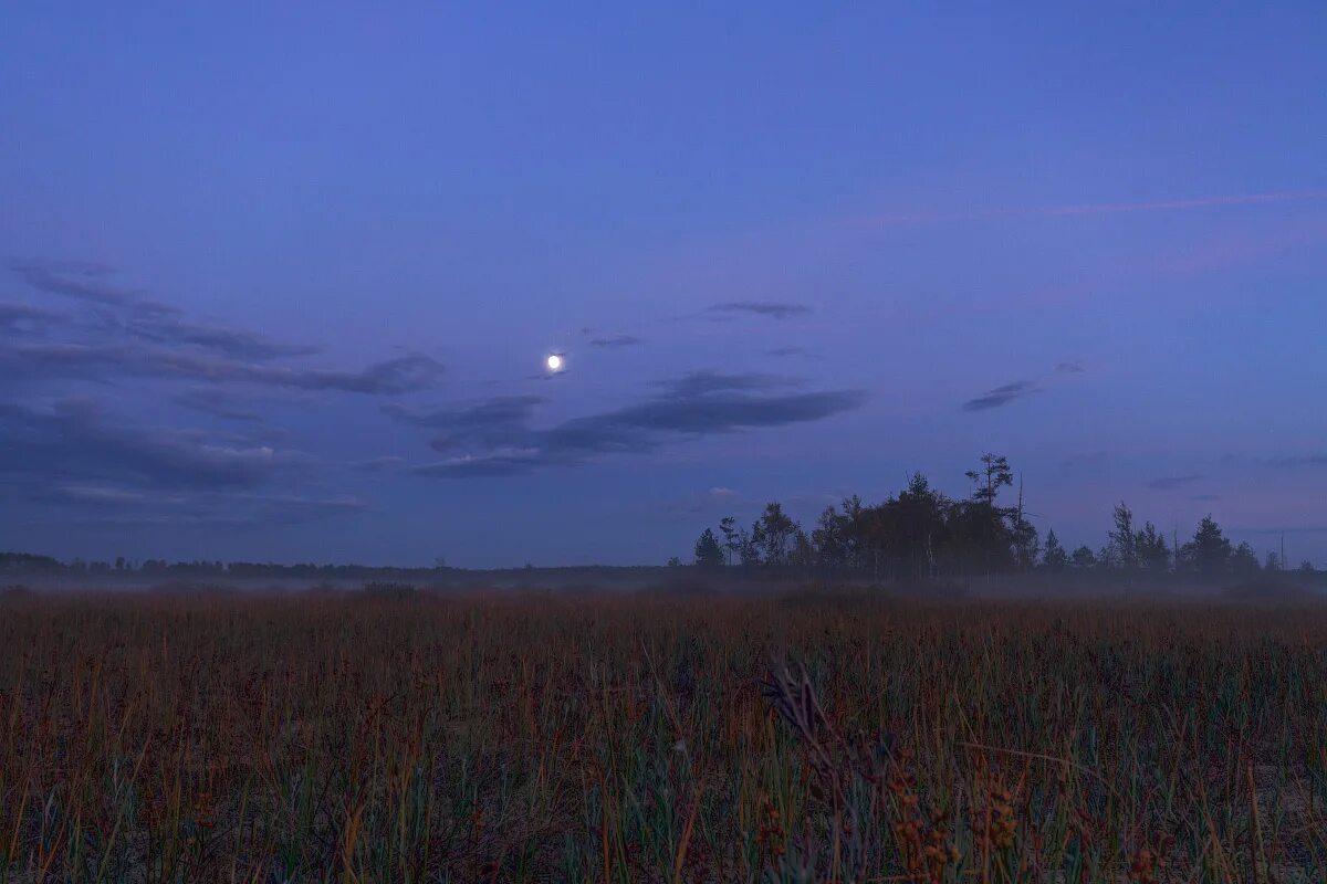
[[[247,383],[293,390],[330,390],[368,395],[399,395],[427,390],[442,375],[442,364],[422,354],[378,362],[362,371],[292,368],[202,355],[146,343],[53,342],[0,346],[0,366],[9,363],[25,376],[90,378],[107,375]]]

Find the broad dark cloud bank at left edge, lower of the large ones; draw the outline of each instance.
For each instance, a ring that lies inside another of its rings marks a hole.
[[[199,433],[117,425],[86,399],[50,410],[0,406],[0,473],[125,486],[256,488],[308,465],[297,452],[214,441]]]

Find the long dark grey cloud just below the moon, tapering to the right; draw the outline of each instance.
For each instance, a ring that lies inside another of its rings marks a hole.
[[[673,439],[734,433],[821,420],[861,407],[856,390],[799,392],[795,382],[770,375],[695,371],[656,384],[661,391],[637,403],[573,417],[547,429],[528,417],[502,414],[474,431],[475,410],[443,412],[450,431],[433,440],[445,460],[414,468],[422,476],[464,478],[515,476],[544,467],[569,467],[600,456],[646,453]],[[531,403],[532,407],[532,403]],[[464,451],[478,445],[479,451]]]

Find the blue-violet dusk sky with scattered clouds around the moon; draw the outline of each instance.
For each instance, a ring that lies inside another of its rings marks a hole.
[[[0,549],[662,563],[990,451],[1327,566],[1327,5],[4,17]]]

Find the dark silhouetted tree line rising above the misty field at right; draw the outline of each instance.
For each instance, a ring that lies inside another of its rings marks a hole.
[[[697,538],[694,565],[713,571],[869,578],[876,583],[1028,571],[1216,582],[1286,567],[1275,553],[1259,563],[1249,543],[1234,545],[1210,516],[1198,524],[1192,539],[1168,543],[1152,522],[1137,525],[1123,502],[1115,506],[1113,527],[1100,549],[1070,551],[1054,530],[1043,541],[1028,521],[1022,488],[1014,493],[1007,457],[983,455],[978,468],[965,474],[973,484],[969,497],[951,498],[916,473],[904,490],[882,502],[868,505],[855,494],[839,506],[827,506],[809,530],[778,502],[767,504],[750,527],[729,516],[719,521],[718,531],[706,527]],[[1314,571],[1310,562],[1299,570]]]

